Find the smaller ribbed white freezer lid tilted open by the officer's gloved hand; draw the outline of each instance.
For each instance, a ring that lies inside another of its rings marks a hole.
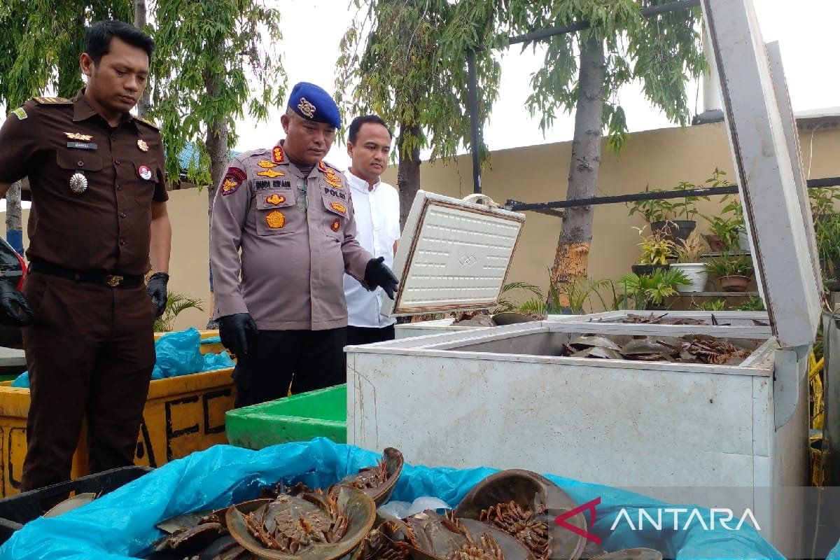
[[[399,290],[382,314],[495,307],[524,222],[517,212],[417,191],[394,257]]]

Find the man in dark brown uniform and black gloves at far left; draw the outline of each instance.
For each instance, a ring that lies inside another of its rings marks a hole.
[[[29,322],[15,305],[32,312],[23,490],[70,478],[86,415],[91,472],[134,461],[171,244],[160,133],[129,114],[152,50],[128,24],[92,25],[80,57],[87,87],[35,97],[0,128],[0,195],[29,176],[33,203],[24,295],[0,282],[0,321]]]

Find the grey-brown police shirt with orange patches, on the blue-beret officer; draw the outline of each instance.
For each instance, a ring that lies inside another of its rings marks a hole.
[[[344,272],[365,285],[372,258],[355,233],[339,171],[322,162],[303,175],[281,146],[237,155],[213,201],[214,317],[249,312],[278,331],[346,327]]]

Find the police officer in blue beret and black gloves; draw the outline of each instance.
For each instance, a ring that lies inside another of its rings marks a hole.
[[[238,357],[236,406],[286,396],[290,384],[344,383],[344,272],[391,298],[396,289],[355,239],[347,179],[323,161],[341,127],[332,97],[297,84],[281,123],[286,139],[234,157],[213,202],[214,317]]]

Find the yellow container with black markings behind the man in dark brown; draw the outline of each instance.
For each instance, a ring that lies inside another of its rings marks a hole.
[[[210,335],[213,336],[213,335]],[[155,379],[143,411],[134,463],[160,467],[217,443],[227,443],[224,415],[234,408],[234,369]],[[26,455],[26,416],[29,389],[0,383],[0,496],[20,491]],[[88,474],[87,442],[81,441],[73,458],[72,478]]]

